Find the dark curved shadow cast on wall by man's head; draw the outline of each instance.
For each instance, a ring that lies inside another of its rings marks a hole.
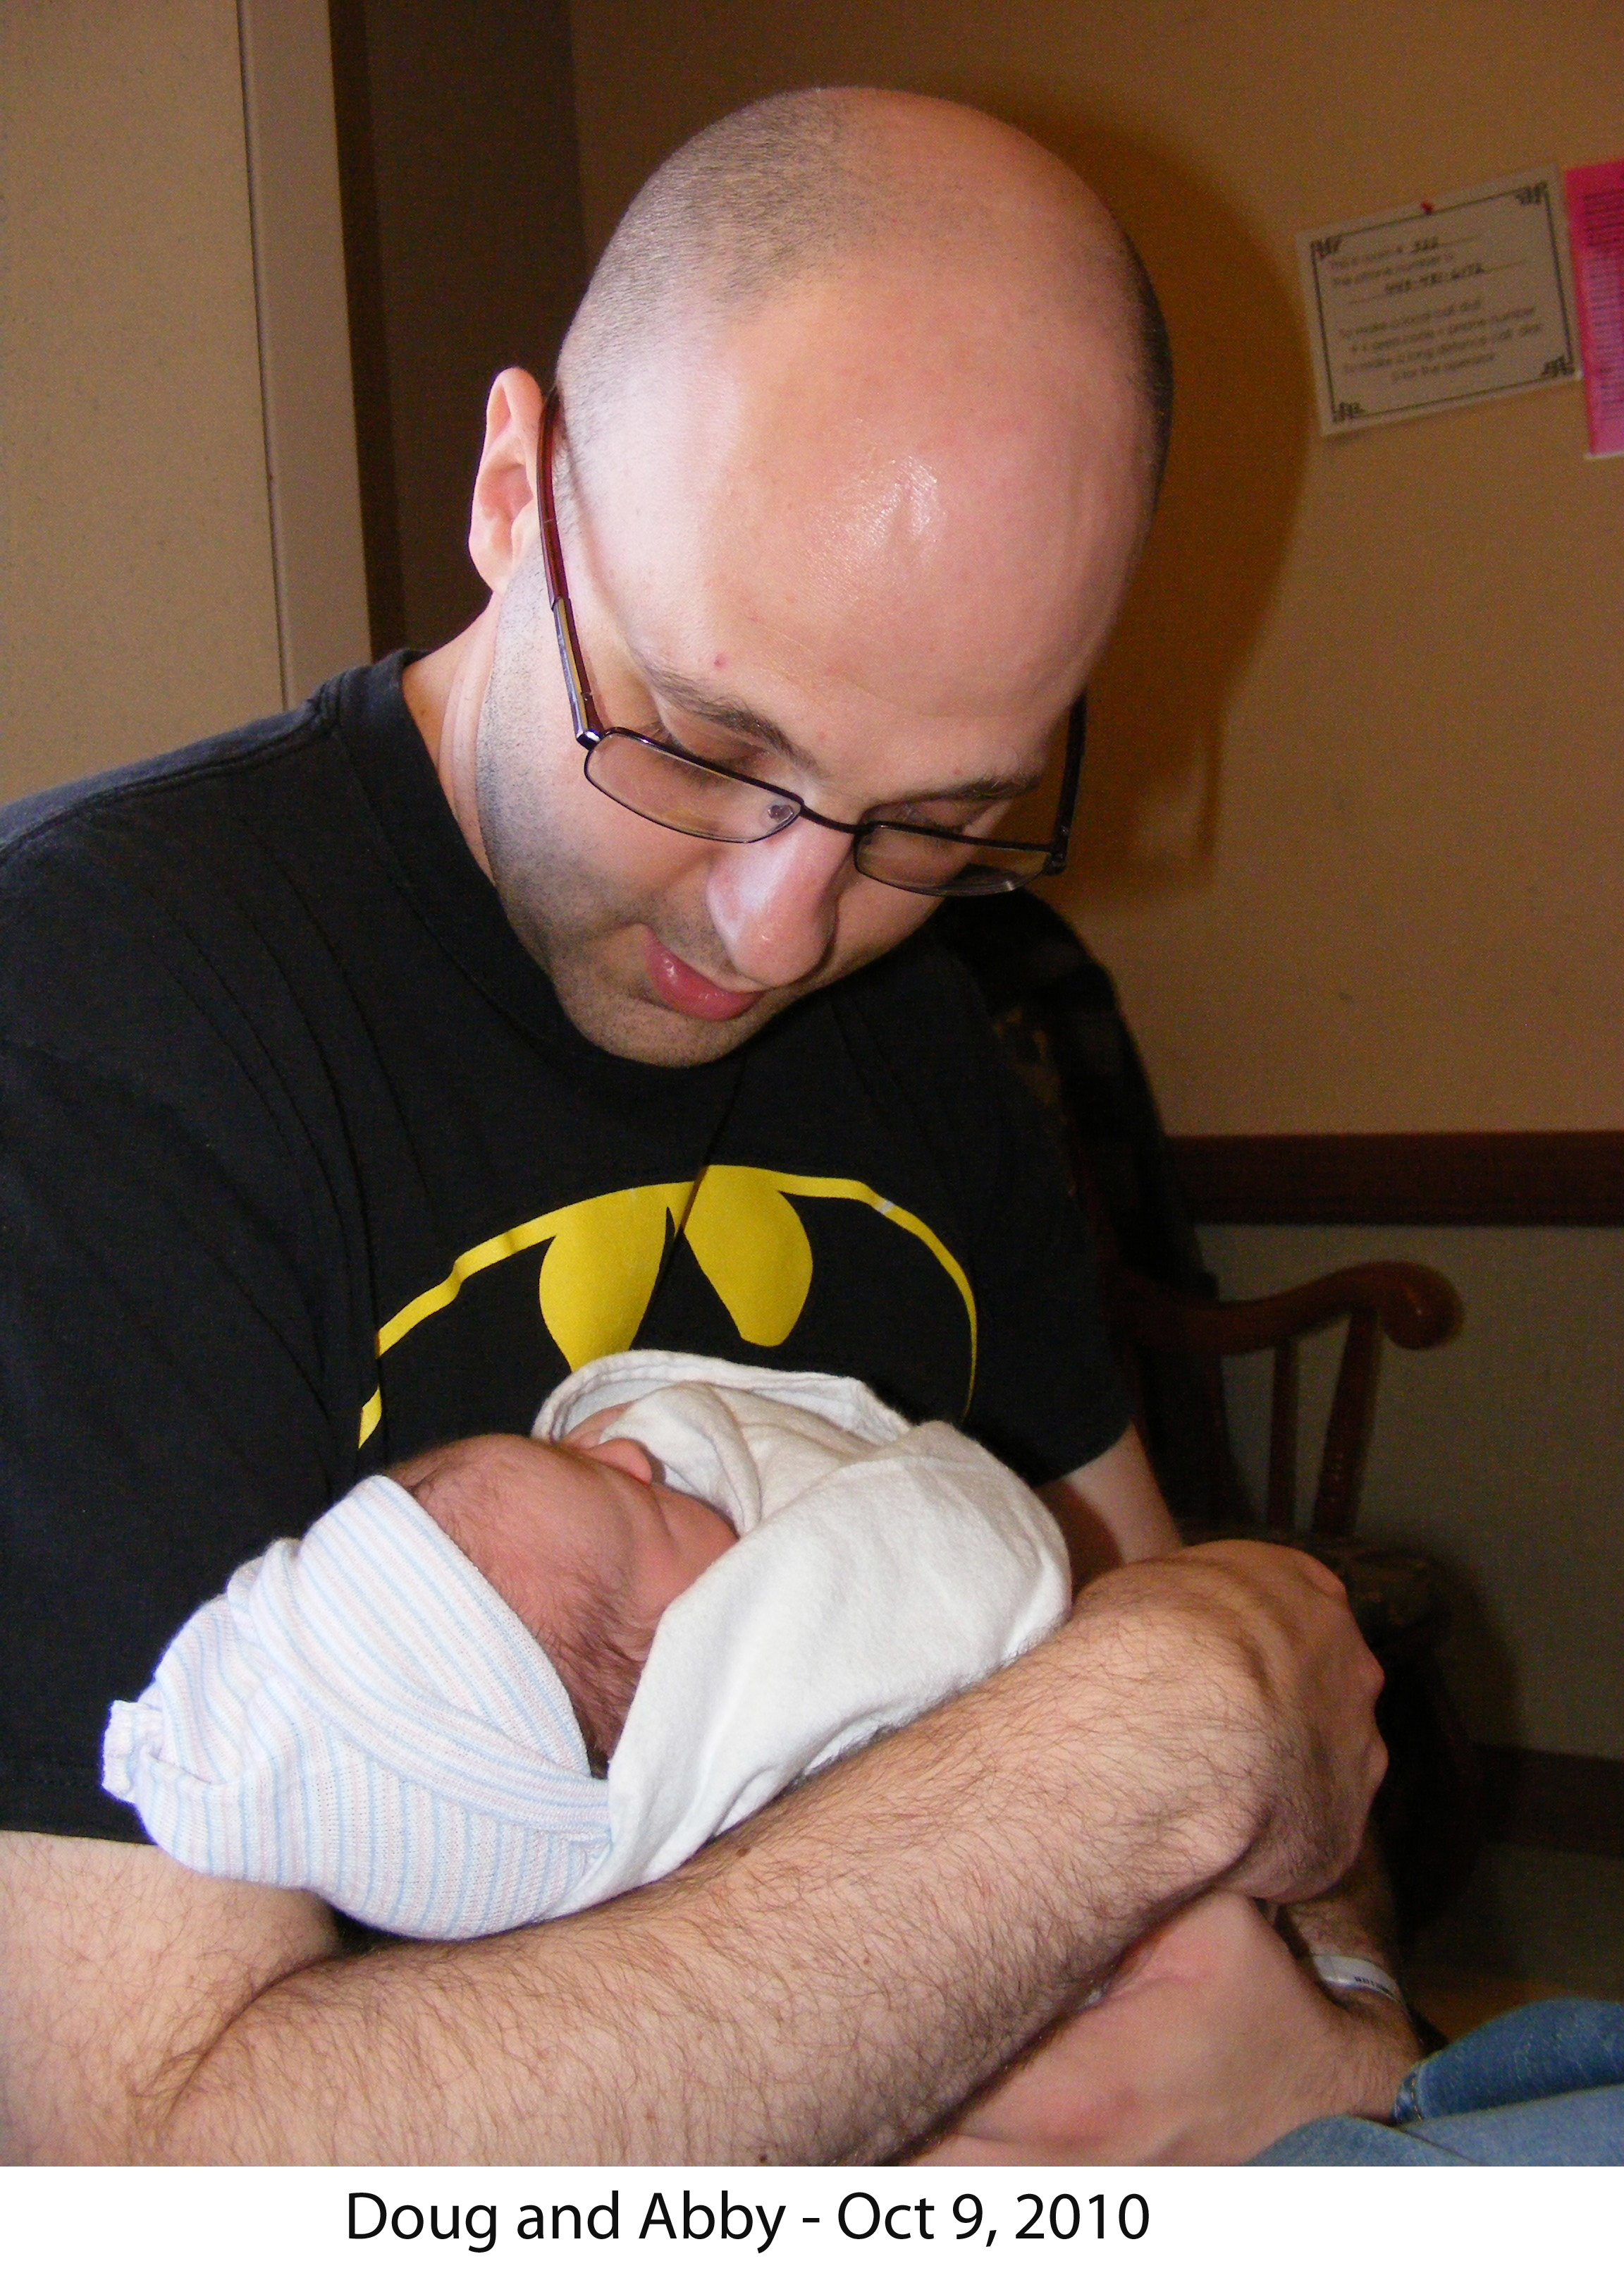
[[[1222,820],[1224,720],[1268,619],[1313,432],[1300,308],[1277,258],[1188,155],[1131,126],[998,105],[1121,217],[1176,363],[1144,562],[1090,688],[1069,912],[1199,887]]]

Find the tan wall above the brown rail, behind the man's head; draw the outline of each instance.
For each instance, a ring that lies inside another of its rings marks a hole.
[[[1624,151],[1624,0],[573,0],[587,240],[774,87],[1028,126],[1181,414],[1064,905],[1179,1133],[1624,1127],[1624,459],[1576,386],[1325,443],[1293,233]]]

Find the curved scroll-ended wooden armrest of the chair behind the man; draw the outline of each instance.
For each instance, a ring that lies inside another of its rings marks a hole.
[[[1418,1261],[1359,1261],[1259,1300],[1192,1300],[1121,1264],[1106,1277],[1133,1341],[1199,1357],[1249,1357],[1354,1314],[1368,1314],[1400,1348],[1437,1348],[1462,1318],[1448,1277]]]

